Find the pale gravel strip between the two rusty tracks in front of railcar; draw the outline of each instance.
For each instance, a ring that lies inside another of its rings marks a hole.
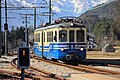
[[[31,66],[34,66],[34,65],[36,68],[43,69],[45,71],[51,72],[53,74],[57,74],[62,77],[70,77],[71,74],[84,73],[84,72],[73,70],[64,66],[59,66],[59,65],[32,59]]]

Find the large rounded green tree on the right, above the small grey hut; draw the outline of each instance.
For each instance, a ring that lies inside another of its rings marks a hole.
[[[100,44],[99,48],[104,46],[104,41],[107,39],[107,43],[113,44],[117,35],[120,33],[118,23],[112,19],[102,18],[94,28],[94,34],[96,36],[97,43]]]

